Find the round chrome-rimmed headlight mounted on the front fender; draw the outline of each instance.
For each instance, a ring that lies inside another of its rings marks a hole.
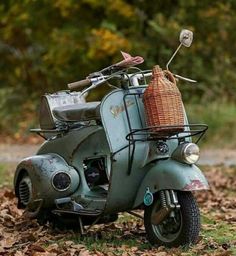
[[[184,143],[177,147],[173,152],[172,158],[187,164],[194,164],[198,161],[200,150],[198,145],[194,143]]]

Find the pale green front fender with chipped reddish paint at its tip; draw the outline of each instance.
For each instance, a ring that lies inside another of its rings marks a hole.
[[[194,191],[209,189],[208,182],[196,165],[188,165],[173,159],[150,165],[139,186],[134,208],[143,203],[146,188],[152,193],[163,189]]]

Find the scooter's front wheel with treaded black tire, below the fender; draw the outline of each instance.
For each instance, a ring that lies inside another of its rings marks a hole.
[[[145,208],[144,226],[147,239],[152,245],[178,247],[180,245],[188,246],[198,241],[201,223],[195,198],[191,192],[178,191],[177,196],[180,209],[175,210],[175,218],[168,215],[158,225],[151,223],[153,211],[157,211],[161,207],[158,197],[155,198],[151,206]]]

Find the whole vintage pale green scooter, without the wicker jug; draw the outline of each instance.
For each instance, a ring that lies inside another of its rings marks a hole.
[[[180,47],[191,42],[192,32],[183,30],[167,69]],[[208,189],[208,183],[195,165],[196,143],[207,126],[190,125],[185,115],[178,134],[153,134],[143,106],[151,75],[112,65],[69,84],[72,91],[44,95],[40,129],[32,131],[46,141],[17,166],[18,207],[40,221],[76,223],[81,233],[86,225],[115,221],[125,211],[144,219],[151,244],[197,242],[200,214],[192,191]],[[86,102],[87,93],[104,83],[112,90],[101,101]],[[144,216],[133,212],[137,209]]]

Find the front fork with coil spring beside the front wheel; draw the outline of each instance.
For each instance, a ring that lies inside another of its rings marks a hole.
[[[168,215],[174,218],[174,209],[180,209],[177,193],[174,190],[161,190],[159,196],[161,207],[157,212],[153,212],[151,217],[151,222],[154,225],[160,224]]]

